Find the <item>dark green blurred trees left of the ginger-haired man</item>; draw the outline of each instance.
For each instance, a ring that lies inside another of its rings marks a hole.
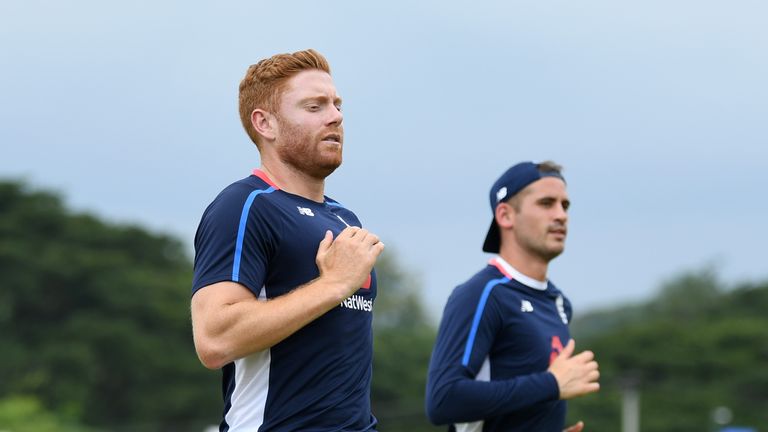
[[[1,182],[0,274],[0,397],[34,395],[93,426],[194,430],[218,416],[220,397],[201,391],[218,377],[192,346],[179,241]]]

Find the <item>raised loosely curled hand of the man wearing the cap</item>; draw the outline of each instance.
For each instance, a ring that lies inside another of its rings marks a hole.
[[[594,393],[600,390],[600,378],[595,355],[592,351],[584,351],[574,355],[576,343],[573,339],[555,358],[549,366],[549,372],[555,376],[560,388],[560,399],[571,399],[576,396]]]

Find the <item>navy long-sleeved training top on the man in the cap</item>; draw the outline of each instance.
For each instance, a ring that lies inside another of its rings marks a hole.
[[[571,304],[496,257],[454,289],[427,377],[427,415],[457,432],[562,432],[565,401],[547,371],[570,340]]]

